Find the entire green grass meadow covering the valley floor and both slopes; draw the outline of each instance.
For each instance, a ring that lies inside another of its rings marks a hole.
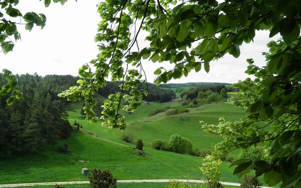
[[[84,129],[73,132],[69,138],[61,141],[68,144],[71,152],[59,153],[54,146],[49,146],[36,155],[2,159],[0,182],[4,184],[88,180],[86,176],[81,175],[83,167],[108,168],[117,179],[201,179],[199,166],[202,157],[155,150],[149,147],[150,143],[154,139],[168,140],[170,135],[178,133],[190,139],[194,147],[211,148],[211,144],[220,141],[221,138],[203,132],[199,120],[217,123],[220,116],[228,120],[238,120],[243,115],[243,110],[220,103],[190,108],[189,113],[181,115],[165,116],[165,113],[160,113],[147,117],[150,110],[167,105],[180,106],[181,102],[143,103],[136,112],[126,115],[128,126],[125,131],[119,131],[101,127],[100,123],[90,124],[78,119],[81,103],[73,103],[68,106],[69,121],[71,124],[75,120],[80,122]],[[133,144],[120,140],[125,132],[131,132],[136,136],[135,139],[143,140],[143,150],[147,153],[144,157],[136,154]],[[85,162],[80,163],[79,160]],[[229,163],[222,164],[220,180],[239,182],[238,177],[232,176],[233,168],[228,166]],[[119,183],[118,187],[164,187],[164,183]]]

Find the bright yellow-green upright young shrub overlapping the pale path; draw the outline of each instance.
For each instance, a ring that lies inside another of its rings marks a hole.
[[[219,178],[221,177],[221,164],[221,159],[216,159],[212,155],[207,155],[204,158],[200,169],[203,172],[207,188],[222,187],[222,185],[219,183]]]

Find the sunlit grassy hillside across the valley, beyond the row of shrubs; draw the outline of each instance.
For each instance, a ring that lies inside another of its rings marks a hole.
[[[163,112],[147,117],[150,110],[166,105],[180,106],[181,103],[150,103],[150,105],[143,106],[135,113],[126,116],[128,126],[124,131],[110,130],[98,124],[86,123],[83,120],[80,122],[85,129],[103,135],[108,139],[114,139],[115,141],[119,141],[121,135],[128,132],[134,134],[135,139],[142,139],[144,146],[149,147],[153,140],[169,140],[172,134],[177,133],[190,139],[196,148],[211,149],[212,144],[221,141],[222,138],[205,133],[199,121],[203,120],[209,124],[217,124],[221,116],[224,116],[227,120],[238,120],[243,115],[243,109],[235,108],[231,104],[213,103],[190,108],[189,113],[181,115],[165,116],[165,112]],[[239,152],[239,150],[234,151],[232,155],[237,155]]]

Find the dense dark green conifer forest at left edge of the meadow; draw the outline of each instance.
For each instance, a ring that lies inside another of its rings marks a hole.
[[[0,87],[5,81],[0,74]],[[66,99],[57,94],[76,83],[73,76],[17,75],[23,97],[13,105],[0,98],[0,157],[36,153],[47,144],[66,138],[71,126]]]

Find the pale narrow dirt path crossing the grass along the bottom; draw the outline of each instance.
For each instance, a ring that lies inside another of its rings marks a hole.
[[[141,182],[169,182],[173,179],[133,179],[133,180],[117,180],[118,183],[141,183]],[[178,179],[181,182],[203,183],[203,180],[196,179]],[[44,183],[16,183],[16,184],[0,184],[0,187],[18,187],[18,186],[34,186],[34,185],[55,185],[55,184],[87,184],[89,181],[62,181],[62,182],[44,182]],[[240,183],[221,182],[225,185],[240,186]],[[272,188],[263,186],[262,188]]]

